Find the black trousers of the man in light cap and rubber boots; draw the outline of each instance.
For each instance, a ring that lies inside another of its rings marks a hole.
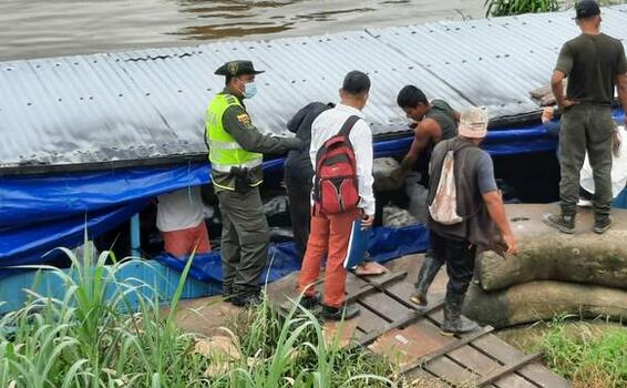
[[[446,264],[446,293],[465,294],[474,273],[476,246],[465,239],[453,239],[431,233],[433,256]]]

